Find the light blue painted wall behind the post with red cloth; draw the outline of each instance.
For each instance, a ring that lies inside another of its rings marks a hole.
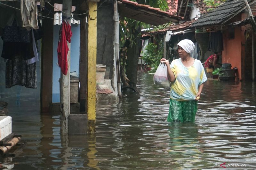
[[[57,56],[57,46],[59,41],[60,26],[56,25],[53,28],[53,75],[52,75],[52,102],[60,102],[60,67]],[[80,28],[79,26],[71,26],[71,54],[70,54],[70,72],[76,71],[79,75],[79,46],[80,46]]]

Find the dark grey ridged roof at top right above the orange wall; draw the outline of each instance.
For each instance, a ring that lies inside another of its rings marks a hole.
[[[248,3],[254,2],[256,0],[248,0]],[[233,18],[237,12],[243,10],[243,8],[245,8],[244,0],[229,0],[198,18],[190,27],[222,25]]]

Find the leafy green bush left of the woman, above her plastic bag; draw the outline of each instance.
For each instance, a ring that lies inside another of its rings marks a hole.
[[[164,56],[164,43],[163,41],[159,41],[158,46],[149,43],[146,47],[146,51],[142,57],[145,63],[148,63],[152,68],[149,72],[155,73],[158,65],[160,64],[161,58]]]

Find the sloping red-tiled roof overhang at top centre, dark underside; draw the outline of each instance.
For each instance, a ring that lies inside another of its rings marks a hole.
[[[183,17],[172,15],[149,5],[138,4],[128,0],[118,0],[118,12],[127,18],[132,18],[151,25],[162,25],[167,22],[178,23]]]

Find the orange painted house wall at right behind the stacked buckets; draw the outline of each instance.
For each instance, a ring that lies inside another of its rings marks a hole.
[[[230,63],[232,68],[238,68],[238,77],[242,80],[241,74],[241,54],[242,54],[242,46],[241,46],[241,27],[235,27],[235,38],[229,40],[228,39],[228,30],[223,32],[223,48],[222,51],[222,63]]]

